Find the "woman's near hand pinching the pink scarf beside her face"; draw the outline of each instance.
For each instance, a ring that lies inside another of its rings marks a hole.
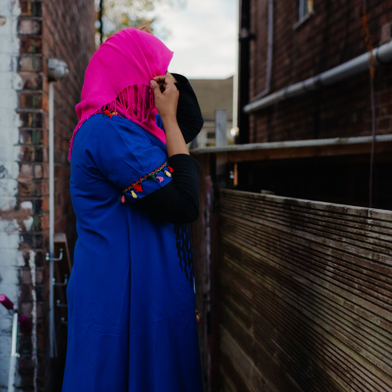
[[[154,93],[155,107],[161,118],[176,119],[180,93],[172,78],[167,74],[156,76],[154,80],[151,80],[150,85]]]

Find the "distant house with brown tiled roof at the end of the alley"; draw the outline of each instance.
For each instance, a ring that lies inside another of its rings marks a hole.
[[[190,79],[198,98],[204,126],[192,147],[215,145],[215,111],[227,110],[227,140],[232,143],[233,136],[233,77],[227,79]]]

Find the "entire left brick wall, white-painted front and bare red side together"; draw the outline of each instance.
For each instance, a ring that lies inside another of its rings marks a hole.
[[[54,87],[55,232],[73,250],[75,220],[69,193],[69,139],[76,125],[84,71],[94,53],[93,0],[5,0],[0,7],[0,292],[33,321],[20,335],[16,386],[53,390],[56,362],[49,359],[48,81],[47,59],[67,62],[68,78]],[[10,43],[12,44],[10,46]],[[6,154],[5,154],[6,152]],[[0,310],[0,391],[8,378],[10,318]],[[59,355],[64,353],[59,353]]]

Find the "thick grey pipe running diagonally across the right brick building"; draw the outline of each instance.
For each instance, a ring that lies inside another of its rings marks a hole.
[[[374,65],[392,62],[392,41],[383,44],[373,50]],[[278,101],[286,100],[294,96],[303,95],[309,91],[314,91],[321,86],[331,85],[340,80],[349,78],[369,69],[369,52],[338,65],[317,76],[290,85],[284,89],[276,91],[264,98],[248,103],[243,106],[243,112],[252,113],[254,111],[268,107]]]

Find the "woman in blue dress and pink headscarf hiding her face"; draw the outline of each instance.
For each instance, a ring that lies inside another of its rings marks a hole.
[[[167,74],[171,58],[149,32],[124,29],[85,73],[63,392],[203,389],[189,229],[200,165],[186,147],[203,120],[186,78]]]

